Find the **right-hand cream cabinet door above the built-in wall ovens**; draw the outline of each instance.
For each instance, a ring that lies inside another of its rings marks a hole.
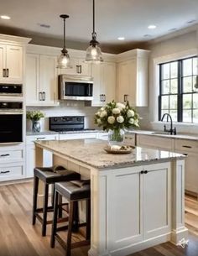
[[[23,81],[23,47],[7,45],[6,68],[9,81]]]

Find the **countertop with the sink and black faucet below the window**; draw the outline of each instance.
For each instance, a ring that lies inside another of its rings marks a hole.
[[[176,135],[170,135],[169,133],[163,133],[162,131],[150,131],[150,130],[131,130],[127,132],[130,133],[136,133],[136,134],[144,134],[144,135],[151,135],[151,136],[157,136],[157,137],[164,137],[164,138],[182,138],[182,139],[189,139],[189,140],[195,140],[198,141],[198,134],[192,134],[192,133],[177,133]]]

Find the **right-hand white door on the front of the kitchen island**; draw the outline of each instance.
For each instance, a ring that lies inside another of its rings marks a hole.
[[[170,164],[147,165],[143,174],[143,239],[170,232]],[[156,182],[157,180],[157,182]]]

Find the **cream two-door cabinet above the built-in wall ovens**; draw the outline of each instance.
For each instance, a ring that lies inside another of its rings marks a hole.
[[[0,44],[0,80],[23,82],[23,47]]]

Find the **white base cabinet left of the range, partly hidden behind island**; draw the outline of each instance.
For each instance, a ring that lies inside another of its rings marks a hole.
[[[36,140],[53,140],[58,139],[58,134],[50,135],[29,135],[26,136],[26,168],[25,177],[31,178],[34,175],[35,167],[35,146],[34,141]],[[44,150],[44,167],[52,166],[52,154],[50,151]]]

